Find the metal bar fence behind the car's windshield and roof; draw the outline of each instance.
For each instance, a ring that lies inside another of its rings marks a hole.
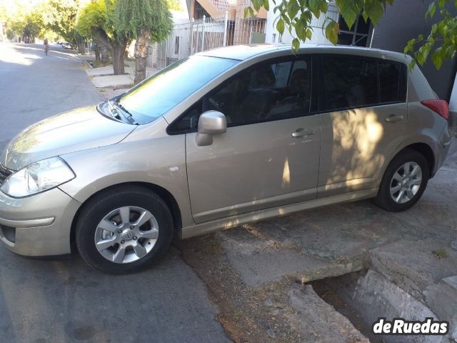
[[[151,46],[151,64],[162,69],[199,51],[264,42],[265,24],[265,19],[238,16],[231,19],[228,12],[221,18],[204,16],[201,20],[176,24],[166,41]]]

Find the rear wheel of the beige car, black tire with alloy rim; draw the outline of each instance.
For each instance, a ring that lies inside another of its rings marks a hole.
[[[420,170],[415,169],[416,166]],[[409,169],[409,172],[406,172],[406,169]],[[415,171],[416,174],[413,175]],[[429,175],[430,170],[426,158],[418,151],[405,149],[396,155],[388,165],[381,180],[378,195],[373,202],[389,212],[410,209],[421,199],[427,187]],[[401,195],[403,189],[405,190]]]

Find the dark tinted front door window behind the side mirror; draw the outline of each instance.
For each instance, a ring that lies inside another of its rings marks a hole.
[[[206,109],[221,111],[229,126],[306,116],[311,106],[311,58],[242,71],[206,96]]]

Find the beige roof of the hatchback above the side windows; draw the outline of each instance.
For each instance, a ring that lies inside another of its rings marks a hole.
[[[291,45],[272,45],[272,44],[251,44],[225,46],[208,51],[200,52],[201,56],[212,56],[225,59],[236,59],[244,61],[259,55],[293,54]],[[394,61],[407,62],[410,58],[405,54],[394,51],[387,51],[373,48],[363,48],[361,46],[329,45],[329,44],[301,44],[299,54],[303,53],[322,53],[322,54],[350,54],[356,56],[370,56],[381,59],[392,59]]]

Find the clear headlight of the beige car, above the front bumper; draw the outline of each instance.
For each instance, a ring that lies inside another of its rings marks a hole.
[[[27,197],[44,192],[74,179],[76,175],[60,157],[44,159],[11,174],[1,186],[1,192],[11,197]]]

